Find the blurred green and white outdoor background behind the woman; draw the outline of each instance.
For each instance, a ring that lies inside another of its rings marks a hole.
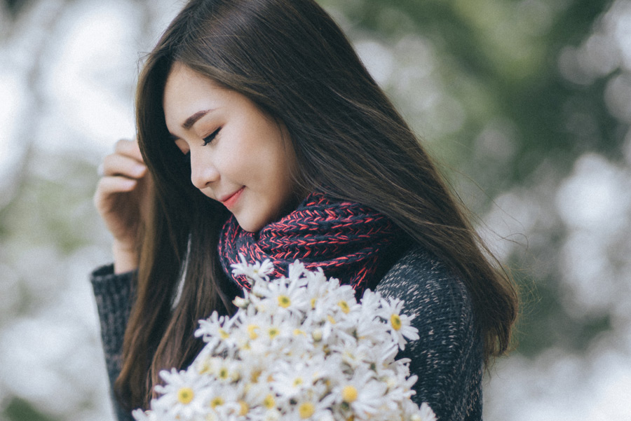
[[[487,420],[631,420],[631,0],[321,0],[523,296]],[[0,0],[0,420],[111,420],[96,167],[182,6]]]

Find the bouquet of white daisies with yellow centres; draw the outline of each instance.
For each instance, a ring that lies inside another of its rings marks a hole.
[[[358,303],[351,287],[298,261],[272,280],[269,261],[241,262],[233,272],[252,289],[238,311],[201,320],[205,347],[186,371],[160,373],[160,396],[136,420],[435,421],[410,400],[409,359],[395,360],[419,338],[402,301],[367,290]]]

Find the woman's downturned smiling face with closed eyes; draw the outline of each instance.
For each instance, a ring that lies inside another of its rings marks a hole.
[[[191,181],[255,232],[294,203],[296,158],[285,126],[250,99],[174,64],[165,85],[166,125],[189,153]]]

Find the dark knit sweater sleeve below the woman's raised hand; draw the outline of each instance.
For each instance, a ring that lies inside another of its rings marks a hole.
[[[97,268],[90,275],[100,319],[101,340],[112,397],[114,381],[121,373],[123,365],[123,336],[134,299],[134,278],[135,272],[114,274],[114,265]],[[131,413],[123,410],[116,399],[112,400],[118,421],[133,420]]]

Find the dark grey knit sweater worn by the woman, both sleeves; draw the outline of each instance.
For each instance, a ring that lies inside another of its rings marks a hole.
[[[123,333],[132,303],[133,273],[114,275],[111,265],[90,280],[99,311],[110,383],[121,370]],[[402,312],[416,314],[421,338],[398,358],[411,359],[419,376],[414,401],[427,402],[440,421],[482,419],[482,340],[470,296],[458,277],[423,249],[408,251],[376,287],[382,296],[405,300]],[[116,402],[118,421],[133,420]]]

